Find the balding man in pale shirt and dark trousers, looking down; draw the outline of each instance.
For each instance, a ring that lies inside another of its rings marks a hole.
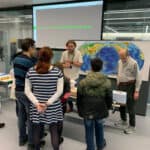
[[[126,106],[120,107],[121,120],[116,123],[116,125],[127,125],[127,108],[129,113],[129,126],[124,130],[124,133],[130,134],[135,131],[135,105],[139,98],[141,80],[138,64],[133,58],[129,56],[128,50],[120,49],[119,56],[120,60],[118,63],[117,85],[118,90],[127,92],[127,102]]]

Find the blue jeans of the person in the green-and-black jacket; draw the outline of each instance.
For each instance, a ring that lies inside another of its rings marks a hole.
[[[102,120],[84,119],[85,138],[87,150],[95,150],[94,144],[94,130],[96,137],[97,149],[103,149],[104,146],[104,128]]]

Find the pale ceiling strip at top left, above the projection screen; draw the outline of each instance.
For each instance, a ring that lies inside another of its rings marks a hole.
[[[73,0],[0,0],[0,8],[30,6],[35,4],[67,2]]]

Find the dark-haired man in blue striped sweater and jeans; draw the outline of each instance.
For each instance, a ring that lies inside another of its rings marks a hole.
[[[22,41],[21,48],[21,54],[15,57],[13,61],[15,96],[18,106],[19,146],[25,145],[27,141],[29,144],[32,143],[32,128],[28,120],[30,101],[24,94],[24,85],[27,71],[35,64],[35,61],[32,59],[35,54],[35,41],[26,38]],[[26,131],[27,127],[28,132]]]

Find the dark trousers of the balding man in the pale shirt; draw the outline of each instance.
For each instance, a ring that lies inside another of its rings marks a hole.
[[[127,103],[126,106],[120,107],[120,117],[123,121],[127,121],[127,114],[126,111],[129,113],[129,125],[135,127],[136,120],[135,120],[135,104],[136,101],[134,100],[134,91],[135,91],[135,83],[130,83],[128,85],[120,84],[118,86],[118,90],[126,91],[127,92]]]

